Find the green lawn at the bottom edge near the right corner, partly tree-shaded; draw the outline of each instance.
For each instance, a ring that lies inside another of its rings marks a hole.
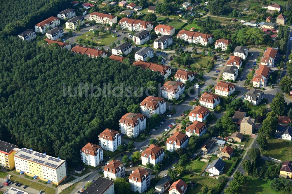
[[[270,187],[270,180],[265,183],[261,178],[248,176],[248,181],[243,187],[244,194],[284,194],[283,192],[273,191]]]

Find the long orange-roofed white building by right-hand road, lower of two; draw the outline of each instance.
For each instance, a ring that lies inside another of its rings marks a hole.
[[[259,65],[253,77],[253,87],[266,87],[270,77],[271,67]]]

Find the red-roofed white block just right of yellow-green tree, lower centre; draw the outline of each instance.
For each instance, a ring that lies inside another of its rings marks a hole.
[[[155,164],[161,163],[164,156],[164,149],[157,145],[151,144],[145,151],[141,154],[142,165],[146,165],[147,163]]]

